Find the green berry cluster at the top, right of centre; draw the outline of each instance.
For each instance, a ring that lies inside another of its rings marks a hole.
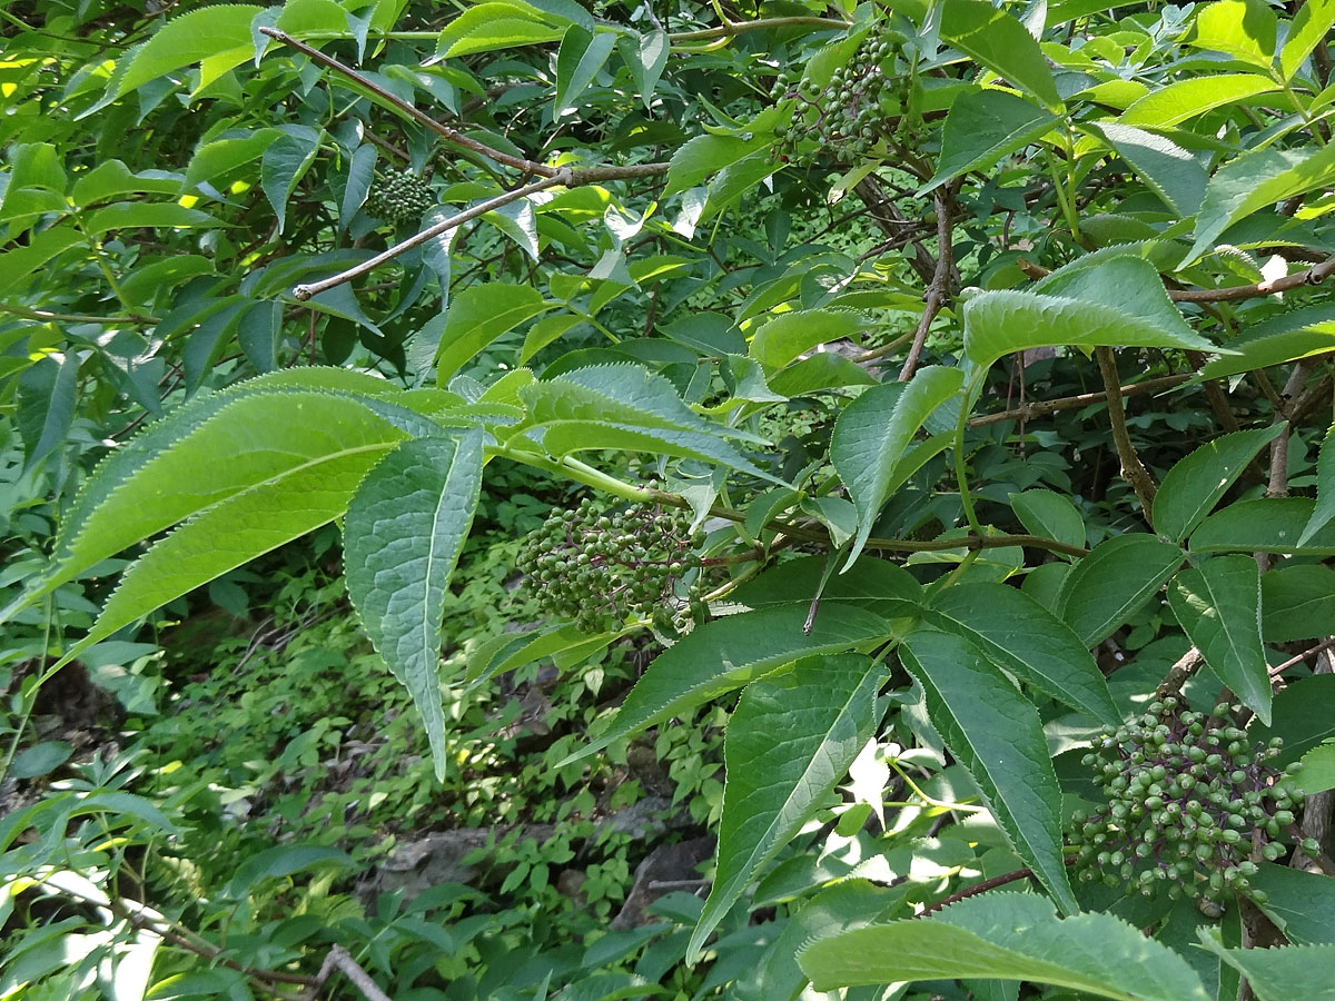
[[[902,107],[901,81],[893,75],[894,53],[894,43],[873,28],[826,87],[808,76],[794,84],[788,73],[780,73],[772,91],[774,100],[797,99],[792,121],[778,129],[780,152],[796,156],[801,140],[818,139],[820,148],[841,160],[869,153],[882,121]]]

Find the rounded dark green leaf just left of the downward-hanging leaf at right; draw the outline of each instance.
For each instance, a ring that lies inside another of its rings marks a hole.
[[[1181,549],[1153,535],[1116,535],[1071,569],[1053,611],[1089,649],[1139,611],[1183,559]]]

